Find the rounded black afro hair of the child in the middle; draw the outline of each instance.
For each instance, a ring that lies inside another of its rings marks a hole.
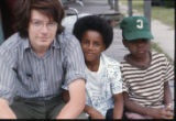
[[[81,42],[84,33],[88,30],[97,31],[102,35],[106,50],[112,43],[113,29],[107,20],[98,15],[82,16],[75,23],[73,33],[79,40],[79,42]]]

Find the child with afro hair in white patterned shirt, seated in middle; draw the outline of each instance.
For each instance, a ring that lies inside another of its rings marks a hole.
[[[111,119],[121,119],[123,98],[120,64],[102,53],[112,43],[111,25],[99,16],[88,15],[75,23],[73,33],[80,42],[87,65],[84,111],[90,119],[105,119],[107,110],[114,108]],[[64,97],[68,100],[66,91]]]

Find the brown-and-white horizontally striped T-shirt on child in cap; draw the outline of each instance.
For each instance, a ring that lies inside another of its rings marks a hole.
[[[173,66],[164,54],[152,52],[151,65],[146,69],[121,62],[123,91],[129,98],[144,107],[163,107],[164,82],[174,79]]]

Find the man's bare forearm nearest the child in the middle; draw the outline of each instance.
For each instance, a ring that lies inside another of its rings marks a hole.
[[[56,119],[75,119],[85,108],[85,81],[77,79],[69,84],[69,101],[62,109]]]

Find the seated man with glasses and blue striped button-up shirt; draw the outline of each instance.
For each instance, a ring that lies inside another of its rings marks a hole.
[[[58,0],[18,0],[15,30],[0,46],[0,119],[75,119],[85,108],[85,59],[61,24]],[[70,100],[62,99],[62,84]]]

